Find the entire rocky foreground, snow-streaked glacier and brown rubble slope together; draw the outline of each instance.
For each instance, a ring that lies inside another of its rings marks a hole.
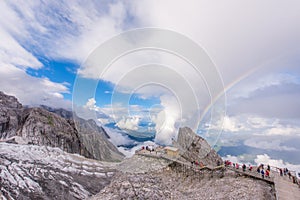
[[[100,162],[59,148],[0,143],[2,199],[275,199],[274,187],[226,169],[134,155]]]

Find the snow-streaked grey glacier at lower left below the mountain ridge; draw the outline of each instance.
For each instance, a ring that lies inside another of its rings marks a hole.
[[[0,143],[0,199],[85,199],[110,183],[114,165],[59,148]]]

